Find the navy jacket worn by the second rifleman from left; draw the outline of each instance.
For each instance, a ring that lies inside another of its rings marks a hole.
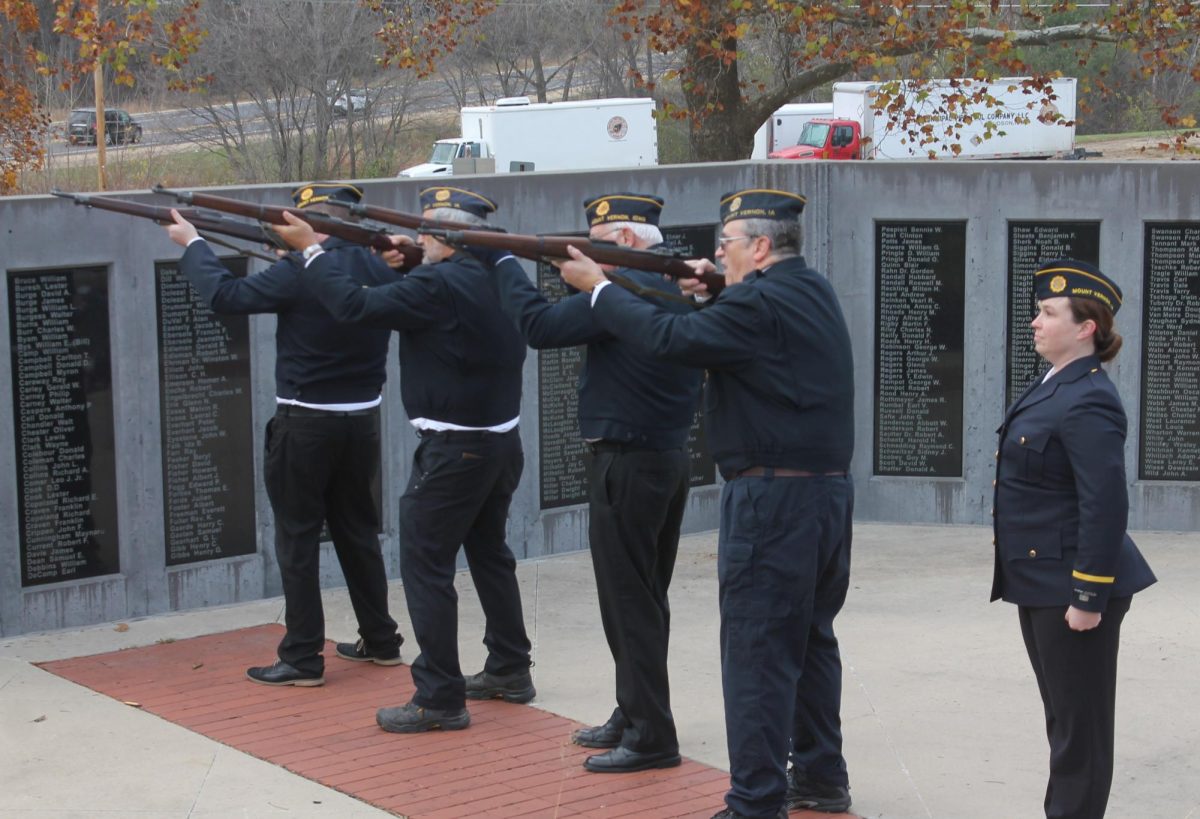
[[[526,345],[496,309],[491,270],[456,252],[383,287],[360,287],[323,253],[300,279],[342,322],[395,329],[409,418],[499,426],[521,414]]]

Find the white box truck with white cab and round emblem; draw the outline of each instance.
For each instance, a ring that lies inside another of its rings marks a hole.
[[[456,163],[468,173],[659,163],[658,122],[654,101],[648,98],[529,102],[529,97],[508,97],[494,106],[463,108],[460,116],[462,136],[438,139],[428,162],[397,175],[450,175]]]

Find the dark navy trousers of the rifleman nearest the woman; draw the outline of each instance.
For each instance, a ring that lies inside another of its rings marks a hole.
[[[853,507],[844,476],[734,478],[721,492],[725,802],[742,815],[778,814],[788,757],[811,781],[850,782],[833,621],[850,587]]]

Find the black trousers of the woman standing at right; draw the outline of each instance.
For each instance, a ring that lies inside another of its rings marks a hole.
[[[1050,740],[1046,819],[1100,819],[1112,785],[1121,621],[1132,598],[1109,600],[1100,624],[1073,632],[1067,606],[1019,606]]]

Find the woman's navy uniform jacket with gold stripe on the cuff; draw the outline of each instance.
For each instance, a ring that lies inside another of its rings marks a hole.
[[[1032,385],[997,431],[991,599],[1104,611],[1154,582],[1126,533],[1126,416],[1099,358]]]

